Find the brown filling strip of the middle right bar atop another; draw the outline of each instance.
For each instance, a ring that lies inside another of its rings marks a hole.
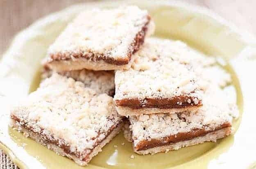
[[[190,99],[190,103],[188,103],[188,99]],[[174,97],[172,99],[168,98],[155,98],[155,99],[122,99],[116,100],[116,106],[124,106],[133,109],[140,109],[140,108],[160,108],[160,109],[170,109],[170,108],[186,108],[192,107],[194,105],[201,106],[202,102],[199,101],[197,104],[193,102],[192,97]]]

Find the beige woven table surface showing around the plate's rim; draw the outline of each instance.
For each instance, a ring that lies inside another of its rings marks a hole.
[[[181,0],[196,4],[219,14],[240,29],[256,34],[256,0]],[[1,0],[0,1],[0,55],[16,33],[35,20],[85,0]],[[88,2],[88,0],[86,1]],[[18,168],[0,149],[0,169]]]

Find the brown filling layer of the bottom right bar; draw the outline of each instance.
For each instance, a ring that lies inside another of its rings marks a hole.
[[[158,140],[158,139],[143,140],[143,141],[140,141],[138,145],[136,145],[135,149],[136,151],[142,151],[142,150],[150,149],[153,147],[170,145],[172,143],[177,143],[179,141],[191,140],[195,137],[205,136],[208,133],[215,132],[217,130],[220,130],[226,127],[231,127],[231,124],[224,123],[219,127],[215,128],[215,130],[206,131],[205,129],[193,129],[191,132],[178,133],[174,136],[166,136],[166,137],[163,137],[161,140]]]

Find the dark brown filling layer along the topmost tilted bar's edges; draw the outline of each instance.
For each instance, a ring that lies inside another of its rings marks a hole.
[[[52,59],[50,62],[52,61],[59,61],[59,60],[70,60],[71,59],[71,55],[74,58],[85,58],[85,59],[89,59],[91,61],[100,61],[103,60],[108,64],[113,64],[113,65],[125,65],[128,64],[129,61],[131,60],[131,55],[133,55],[136,51],[139,50],[140,46],[144,43],[144,38],[145,35],[147,33],[147,26],[151,20],[150,16],[147,16],[148,22],[145,24],[145,26],[142,27],[141,31],[139,31],[136,34],[136,37],[134,38],[133,42],[131,43],[130,47],[129,47],[129,51],[127,54],[127,58],[124,59],[114,59],[112,57],[108,57],[106,55],[103,55],[102,53],[94,53],[93,51],[79,51],[79,52],[58,52],[58,53],[53,53],[50,54],[50,58]]]

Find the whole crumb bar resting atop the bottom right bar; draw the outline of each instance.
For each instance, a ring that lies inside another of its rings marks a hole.
[[[121,115],[176,113],[202,106],[191,52],[176,41],[148,38],[128,70],[116,70],[114,100]]]

